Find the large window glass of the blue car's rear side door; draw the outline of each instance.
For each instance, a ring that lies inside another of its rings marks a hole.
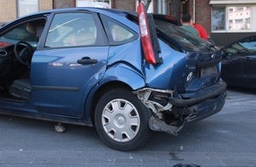
[[[56,14],[45,47],[79,47],[96,44],[98,30],[89,13]]]

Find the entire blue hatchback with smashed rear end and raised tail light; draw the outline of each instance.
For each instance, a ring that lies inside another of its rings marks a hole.
[[[221,51],[138,11],[59,9],[2,26],[0,113],[94,126],[127,151],[221,111]]]

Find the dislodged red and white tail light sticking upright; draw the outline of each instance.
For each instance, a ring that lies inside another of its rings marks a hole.
[[[145,10],[144,4],[139,2],[137,11],[139,15],[139,33],[145,59],[148,63],[156,64],[154,49],[147,24],[147,11]]]

